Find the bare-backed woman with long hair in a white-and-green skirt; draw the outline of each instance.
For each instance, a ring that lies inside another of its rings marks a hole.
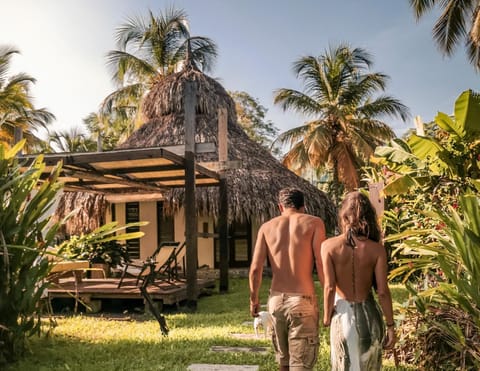
[[[322,244],[325,272],[323,324],[330,326],[332,370],[380,370],[382,346],[395,343],[387,253],[367,196],[349,193],[339,213],[342,234]],[[375,279],[375,281],[374,281]],[[378,301],[372,295],[376,285]]]

